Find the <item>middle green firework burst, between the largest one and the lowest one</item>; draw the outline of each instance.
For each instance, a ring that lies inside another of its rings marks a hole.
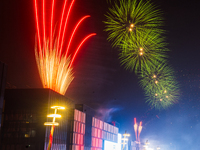
[[[146,34],[122,42],[119,58],[126,69],[134,70],[137,74],[165,62],[168,51],[165,46],[164,38],[160,34],[147,30]]]

